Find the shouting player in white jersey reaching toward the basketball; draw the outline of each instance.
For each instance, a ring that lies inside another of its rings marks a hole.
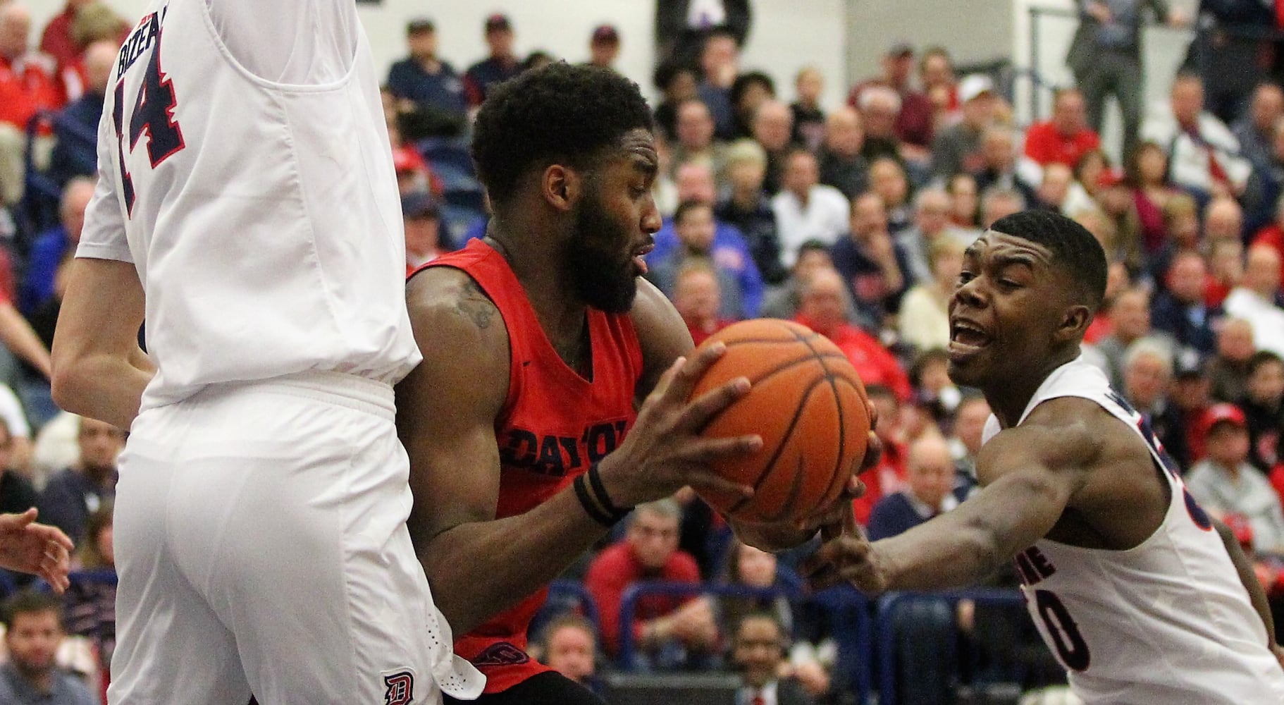
[[[984,489],[894,538],[847,530],[804,570],[878,593],[966,586],[1016,559],[1085,702],[1279,704],[1274,624],[1239,544],[1080,358],[1104,290],[1104,253],[1077,223],[1031,211],[991,225],[950,299],[950,378],[994,410]]]

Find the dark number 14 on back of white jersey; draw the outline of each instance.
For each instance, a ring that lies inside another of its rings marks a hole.
[[[134,152],[144,132],[148,135],[148,159],[152,162],[152,168],[157,168],[172,154],[181,152],[185,144],[182,130],[173,119],[176,105],[173,83],[160,71],[158,35],[155,46],[152,48],[152,58],[148,60],[146,74],[143,77],[143,86],[139,87],[134,109],[130,110],[128,149],[125,143],[125,77],[122,76],[116,83],[116,108],[112,110],[112,117],[116,122],[116,139],[121,155],[121,193],[125,195],[125,207],[130,216],[134,214],[134,178],[125,166],[125,155]]]

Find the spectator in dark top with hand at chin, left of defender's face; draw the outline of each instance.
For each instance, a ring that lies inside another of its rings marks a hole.
[[[913,284],[909,261],[887,230],[887,209],[874,193],[851,204],[850,231],[831,249],[833,266],[847,280],[858,316],[872,330],[882,327],[889,312]]]

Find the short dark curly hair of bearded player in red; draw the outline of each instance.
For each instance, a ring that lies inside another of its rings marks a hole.
[[[637,83],[559,62],[492,89],[478,112],[473,161],[490,200],[502,203],[528,170],[559,161],[583,167],[636,128],[655,128]]]

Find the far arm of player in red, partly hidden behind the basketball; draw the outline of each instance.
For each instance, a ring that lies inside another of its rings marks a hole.
[[[660,375],[672,367],[679,357],[690,356],[695,345],[691,342],[687,324],[683,322],[677,308],[660,289],[645,279],[638,279],[638,295],[630,315],[633,327],[638,334],[638,344],[642,348],[643,374],[637,387],[637,403],[641,406],[655,388]],[[873,434],[869,435],[871,443],[876,443]],[[874,446],[872,458],[877,458],[877,446]],[[858,484],[854,482],[854,491]],[[845,494],[840,501],[850,505],[850,494]],[[832,519],[832,516],[818,515],[804,527],[792,523],[754,524],[732,518],[727,518],[727,521],[741,542],[763,551],[783,551],[805,543],[815,535],[817,528],[827,519]]]

